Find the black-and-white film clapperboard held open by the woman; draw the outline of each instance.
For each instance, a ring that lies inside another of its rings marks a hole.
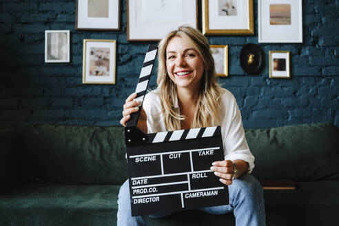
[[[136,86],[141,105],[156,52],[148,47]],[[228,204],[228,187],[209,169],[224,159],[220,126],[144,134],[139,114],[125,127],[132,216]]]

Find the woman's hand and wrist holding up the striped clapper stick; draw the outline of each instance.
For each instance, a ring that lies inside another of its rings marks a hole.
[[[120,121],[121,125],[123,126],[126,126],[127,121],[131,118],[131,114],[138,112],[139,110],[138,105],[140,105],[140,101],[134,101],[135,98],[136,93],[130,94],[123,105],[123,119]],[[145,110],[143,110],[143,107],[141,107],[137,127],[144,133],[147,133],[147,116]]]

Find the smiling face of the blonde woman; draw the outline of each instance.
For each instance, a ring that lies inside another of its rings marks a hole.
[[[192,43],[174,37],[166,48],[167,73],[177,88],[198,90],[204,72],[204,63]]]

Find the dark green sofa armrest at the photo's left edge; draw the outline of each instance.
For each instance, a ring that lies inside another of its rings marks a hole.
[[[15,130],[0,130],[0,191],[11,187],[16,181],[16,137]]]

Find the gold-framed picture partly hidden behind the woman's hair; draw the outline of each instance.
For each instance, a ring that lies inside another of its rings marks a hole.
[[[209,45],[217,76],[228,76],[228,45]]]

